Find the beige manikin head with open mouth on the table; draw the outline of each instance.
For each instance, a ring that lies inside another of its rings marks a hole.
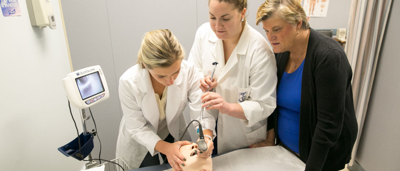
[[[181,146],[179,152],[185,156],[185,166],[181,166],[182,171],[212,171],[211,157],[204,158],[194,153],[197,144]]]

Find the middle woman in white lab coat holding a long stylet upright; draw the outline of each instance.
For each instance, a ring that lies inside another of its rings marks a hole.
[[[204,75],[202,107],[215,118],[218,154],[265,140],[276,107],[276,61],[266,39],[246,23],[246,0],[209,0],[210,22],[196,33],[188,60]],[[218,62],[213,82],[212,62]]]

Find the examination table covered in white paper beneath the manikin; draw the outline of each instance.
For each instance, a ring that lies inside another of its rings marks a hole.
[[[243,148],[212,157],[213,171],[304,171],[298,157],[282,146]],[[131,171],[172,171],[169,164]]]

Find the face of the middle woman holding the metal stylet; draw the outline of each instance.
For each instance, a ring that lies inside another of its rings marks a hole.
[[[232,4],[210,0],[209,6],[210,26],[218,39],[238,39],[242,32],[242,18],[246,8],[241,12],[234,9]]]

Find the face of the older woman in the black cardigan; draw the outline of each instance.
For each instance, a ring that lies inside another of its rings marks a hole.
[[[297,27],[292,27],[288,22],[276,16],[261,22],[262,28],[275,53],[292,51],[294,47],[293,42],[295,42],[297,35]]]

